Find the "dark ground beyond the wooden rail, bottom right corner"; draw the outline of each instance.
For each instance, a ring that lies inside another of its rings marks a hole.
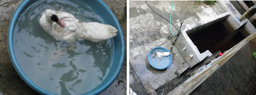
[[[190,94],[246,94],[256,80],[255,51],[247,42]]]

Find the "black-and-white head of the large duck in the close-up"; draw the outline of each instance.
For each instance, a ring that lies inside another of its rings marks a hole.
[[[58,23],[61,27],[65,27],[65,23],[61,19],[58,18],[58,16],[56,15],[56,12],[54,10],[46,9],[45,15],[49,20]]]

